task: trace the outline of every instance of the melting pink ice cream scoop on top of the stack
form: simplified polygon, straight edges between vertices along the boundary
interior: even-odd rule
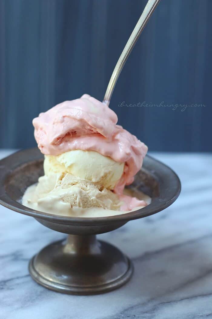
[[[116,125],[117,115],[106,104],[84,94],[65,101],[33,120],[35,139],[43,154],[59,155],[71,150],[96,151],[125,163],[124,172],[114,192],[121,195],[140,170],[147,146]],[[124,198],[127,201],[127,198]],[[131,200],[130,209],[143,205]],[[129,205],[128,205],[129,207]]]

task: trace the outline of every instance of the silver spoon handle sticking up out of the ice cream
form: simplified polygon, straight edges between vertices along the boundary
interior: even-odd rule
[[[127,61],[128,56],[130,55],[130,52],[132,51],[136,41],[138,40],[141,32],[143,31],[144,27],[146,26],[149,18],[151,17],[154,9],[159,4],[160,0],[148,0],[146,7],[144,8],[143,13],[140,16],[140,19],[138,20],[131,36],[129,37],[129,40],[127,41],[127,44],[122,51],[120,58],[118,62],[116,63],[115,69],[113,70],[112,76],[110,78],[110,82],[107,86],[107,90],[105,93],[105,97],[103,100],[103,103],[106,103],[107,105],[110,104],[110,99],[113,94],[114,87],[116,85],[116,82],[118,80],[118,77],[121,73],[121,70]]]

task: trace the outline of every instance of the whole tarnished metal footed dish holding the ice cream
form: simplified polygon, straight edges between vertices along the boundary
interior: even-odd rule
[[[128,221],[143,218],[170,206],[181,183],[172,169],[146,156],[129,188],[152,198],[144,208],[107,217],[69,217],[36,211],[22,205],[22,197],[43,172],[38,148],[14,153],[0,161],[0,204],[34,217],[42,225],[68,234],[68,238],[42,249],[29,263],[32,278],[51,290],[69,294],[96,294],[116,289],[133,273],[132,262],[119,249],[96,234],[112,231]]]

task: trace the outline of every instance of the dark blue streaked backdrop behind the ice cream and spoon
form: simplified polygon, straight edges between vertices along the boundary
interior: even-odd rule
[[[102,100],[145,4],[0,0],[0,147],[35,145],[32,118],[59,102]],[[211,12],[211,0],[161,0],[121,72],[110,107],[151,151],[212,151]]]

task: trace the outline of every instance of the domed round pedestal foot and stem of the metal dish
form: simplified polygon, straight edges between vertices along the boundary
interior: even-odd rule
[[[34,256],[32,278],[51,290],[77,295],[105,293],[125,284],[133,273],[131,261],[95,235],[69,235]]]

